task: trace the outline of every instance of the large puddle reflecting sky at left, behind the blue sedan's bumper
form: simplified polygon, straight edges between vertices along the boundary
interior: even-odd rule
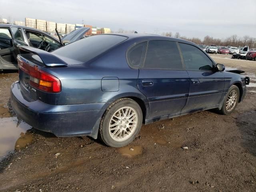
[[[6,116],[10,116],[10,113],[6,113]],[[25,122],[19,121],[17,117],[0,118],[0,160],[9,152],[32,143],[32,134],[26,133],[31,128]]]

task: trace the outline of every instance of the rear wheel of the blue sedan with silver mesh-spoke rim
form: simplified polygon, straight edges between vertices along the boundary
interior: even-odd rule
[[[118,99],[105,111],[99,134],[110,147],[122,147],[132,142],[142,126],[142,110],[129,98]]]

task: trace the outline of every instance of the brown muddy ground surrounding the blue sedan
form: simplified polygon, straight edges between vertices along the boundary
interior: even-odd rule
[[[211,56],[225,66],[244,69],[256,82],[256,62]],[[16,150],[2,152],[6,156],[0,163],[0,191],[256,191],[253,86],[231,116],[209,110],[155,122],[142,126],[129,146],[110,148],[89,137],[56,138],[29,129],[3,108],[17,79],[17,73],[0,74],[2,135],[8,133],[6,125],[18,134],[2,142]],[[4,138],[0,136],[0,142]]]

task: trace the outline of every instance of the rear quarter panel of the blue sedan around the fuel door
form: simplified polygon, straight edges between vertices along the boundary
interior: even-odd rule
[[[117,46],[85,64],[46,69],[59,78],[62,84],[62,91],[56,94],[56,104],[107,103],[128,96],[146,101],[137,88],[138,70],[127,64],[127,48],[128,44]],[[110,87],[110,91],[103,91],[102,78],[111,77],[118,79],[119,89],[111,89],[113,85],[109,84],[107,87]]]

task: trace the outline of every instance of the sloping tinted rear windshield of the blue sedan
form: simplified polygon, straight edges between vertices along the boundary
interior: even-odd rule
[[[52,53],[80,62],[87,62],[126,39],[127,37],[119,35],[95,35],[70,43]]]

